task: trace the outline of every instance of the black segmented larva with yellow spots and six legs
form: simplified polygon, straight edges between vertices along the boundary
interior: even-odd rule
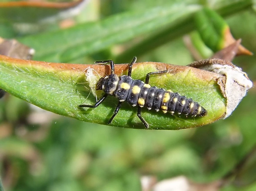
[[[97,83],[97,90],[103,90],[105,94],[94,105],[82,104],[79,105],[79,107],[96,108],[107,98],[107,96],[115,96],[119,102],[116,106],[114,114],[109,119],[108,124],[112,122],[122,103],[127,101],[133,107],[139,105],[137,116],[147,129],[149,128],[149,124],[141,117],[142,107],[146,107],[148,110],[162,110],[164,113],[183,113],[184,115],[190,117],[203,117],[207,114],[207,111],[192,99],[188,99],[185,96],[180,96],[179,93],[173,93],[171,90],[166,91],[162,88],[151,87],[149,85],[150,75],[165,73],[167,70],[149,72],[146,76],[145,83],[141,80],[133,80],[131,78],[132,65],[136,62],[136,59],[137,58],[134,57],[132,62],[129,64],[128,75],[119,77],[115,74],[114,62],[112,60],[95,62],[98,64],[110,64],[111,67],[111,74],[104,78],[100,78]]]

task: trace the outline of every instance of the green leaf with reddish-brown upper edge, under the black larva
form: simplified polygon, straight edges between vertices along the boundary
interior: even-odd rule
[[[116,98],[109,96],[97,108],[78,107],[83,103],[96,102],[86,81],[85,73],[89,67],[95,70],[98,79],[104,76],[105,72],[109,72],[107,66],[97,64],[46,63],[0,56],[0,88],[45,110],[83,121],[107,124],[115,110]],[[126,69],[127,64],[115,65],[118,76],[126,73]],[[148,72],[165,69],[169,72],[153,76],[150,78],[150,84],[192,98],[208,110],[208,115],[201,118],[186,118],[143,108],[142,116],[150,124],[151,129],[177,130],[197,127],[223,116],[226,108],[225,99],[216,81],[220,77],[219,74],[185,66],[144,62],[134,65],[132,77],[144,80]],[[144,129],[144,125],[136,115],[136,108],[127,103],[122,105],[110,125]]]

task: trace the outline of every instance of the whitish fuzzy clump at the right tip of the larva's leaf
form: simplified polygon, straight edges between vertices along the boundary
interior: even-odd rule
[[[247,74],[241,68],[235,65],[210,64],[200,69],[220,73],[226,76],[226,82],[219,79],[219,85],[224,97],[227,98],[226,114],[224,119],[236,109],[239,102],[245,97],[246,92],[253,86],[253,82],[249,80]]]

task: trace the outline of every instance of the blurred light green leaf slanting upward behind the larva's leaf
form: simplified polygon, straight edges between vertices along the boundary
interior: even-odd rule
[[[135,37],[182,23],[200,6],[184,3],[131,11],[105,20],[18,39],[36,50],[34,59],[70,62]]]

